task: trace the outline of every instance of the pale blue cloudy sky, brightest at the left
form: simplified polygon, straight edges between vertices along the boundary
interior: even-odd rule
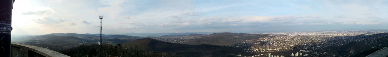
[[[16,0],[12,34],[388,29],[388,0]]]

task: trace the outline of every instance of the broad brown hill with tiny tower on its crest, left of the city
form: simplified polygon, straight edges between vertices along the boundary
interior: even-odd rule
[[[241,43],[244,40],[254,40],[262,37],[271,37],[270,35],[260,35],[260,34],[247,34],[247,33],[213,33],[206,36],[201,36],[200,38],[194,38],[189,41],[186,41],[184,44],[190,45],[200,45],[200,44],[210,44],[210,45],[236,45]]]

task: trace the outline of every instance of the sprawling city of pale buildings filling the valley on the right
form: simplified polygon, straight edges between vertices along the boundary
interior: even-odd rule
[[[377,33],[383,33],[381,31],[376,31]],[[374,34],[376,34],[374,32]],[[364,42],[366,45],[374,46],[388,46],[388,44],[376,43],[381,41],[381,38],[384,36],[379,36],[375,38],[358,38],[367,35],[368,31],[331,31],[324,33],[296,33],[296,34],[287,34],[288,36],[274,35],[274,37],[260,38],[257,40],[246,40],[237,46],[244,48],[245,52],[255,52],[255,53],[265,53],[265,52],[276,52],[283,50],[300,50],[299,53],[292,53],[289,56],[298,57],[298,56],[308,56],[308,55],[322,55],[330,54],[328,52],[334,52],[334,50],[325,50],[322,49],[329,46],[340,46],[352,41]],[[362,35],[364,34],[364,35]],[[387,36],[388,37],[388,36]],[[301,52],[306,52],[307,54],[301,54]],[[332,56],[337,56],[338,54],[330,54]],[[268,55],[270,57],[272,55]]]

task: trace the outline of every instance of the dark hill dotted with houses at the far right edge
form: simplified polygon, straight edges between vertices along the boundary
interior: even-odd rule
[[[344,57],[365,57],[366,55],[369,55],[377,51],[378,49],[388,46],[385,45],[388,44],[388,33],[377,33],[373,35],[340,36],[335,38],[343,37],[345,37],[346,40],[361,40],[351,41],[340,46],[329,46],[327,48],[334,49],[336,51],[336,54]]]

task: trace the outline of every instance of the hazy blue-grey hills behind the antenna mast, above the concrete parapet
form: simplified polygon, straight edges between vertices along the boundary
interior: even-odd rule
[[[106,37],[105,37],[106,36]],[[116,45],[130,40],[139,39],[138,36],[105,35],[102,37],[104,44]],[[49,48],[51,50],[62,50],[76,47],[81,44],[98,43],[100,36],[76,34],[76,33],[51,33],[47,35],[36,35],[24,37],[19,43]]]

